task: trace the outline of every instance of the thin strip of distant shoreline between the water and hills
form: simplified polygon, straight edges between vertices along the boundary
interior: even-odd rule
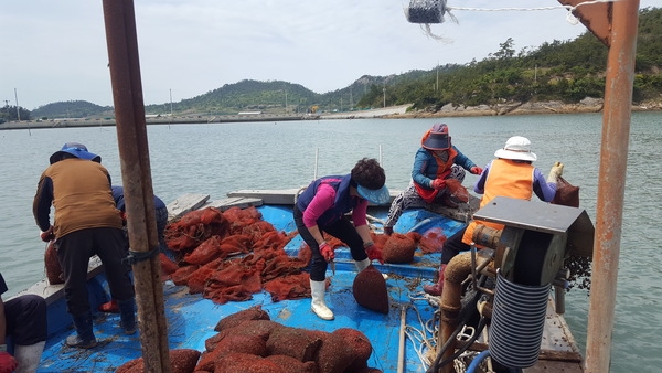
[[[385,108],[354,110],[343,113],[322,113],[303,115],[183,115],[146,118],[147,125],[186,125],[186,124],[222,124],[222,122],[255,122],[255,121],[291,121],[291,120],[333,120],[333,119],[410,119],[410,118],[455,118],[455,117],[485,117],[503,115],[554,115],[554,114],[585,114],[601,113],[602,99],[585,98],[578,104],[564,104],[560,102],[544,103],[513,103],[494,106],[455,106],[448,104],[439,110],[408,111],[412,104],[389,106]],[[632,111],[662,111],[662,102],[651,102],[642,105],[632,105]],[[0,130],[38,129],[38,128],[76,128],[76,127],[114,127],[115,119],[49,119],[49,120],[21,120],[0,124]]]

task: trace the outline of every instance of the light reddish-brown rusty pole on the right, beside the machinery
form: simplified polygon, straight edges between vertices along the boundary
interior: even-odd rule
[[[609,372],[639,0],[612,4],[585,372]]]

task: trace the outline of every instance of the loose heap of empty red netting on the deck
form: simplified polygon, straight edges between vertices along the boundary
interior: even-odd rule
[[[277,231],[255,207],[215,207],[192,211],[166,228],[168,247],[178,252],[175,263],[161,255],[163,271],[191,294],[215,303],[248,300],[267,290],[274,301],[310,297],[310,249],[298,258],[284,247],[297,232]]]

